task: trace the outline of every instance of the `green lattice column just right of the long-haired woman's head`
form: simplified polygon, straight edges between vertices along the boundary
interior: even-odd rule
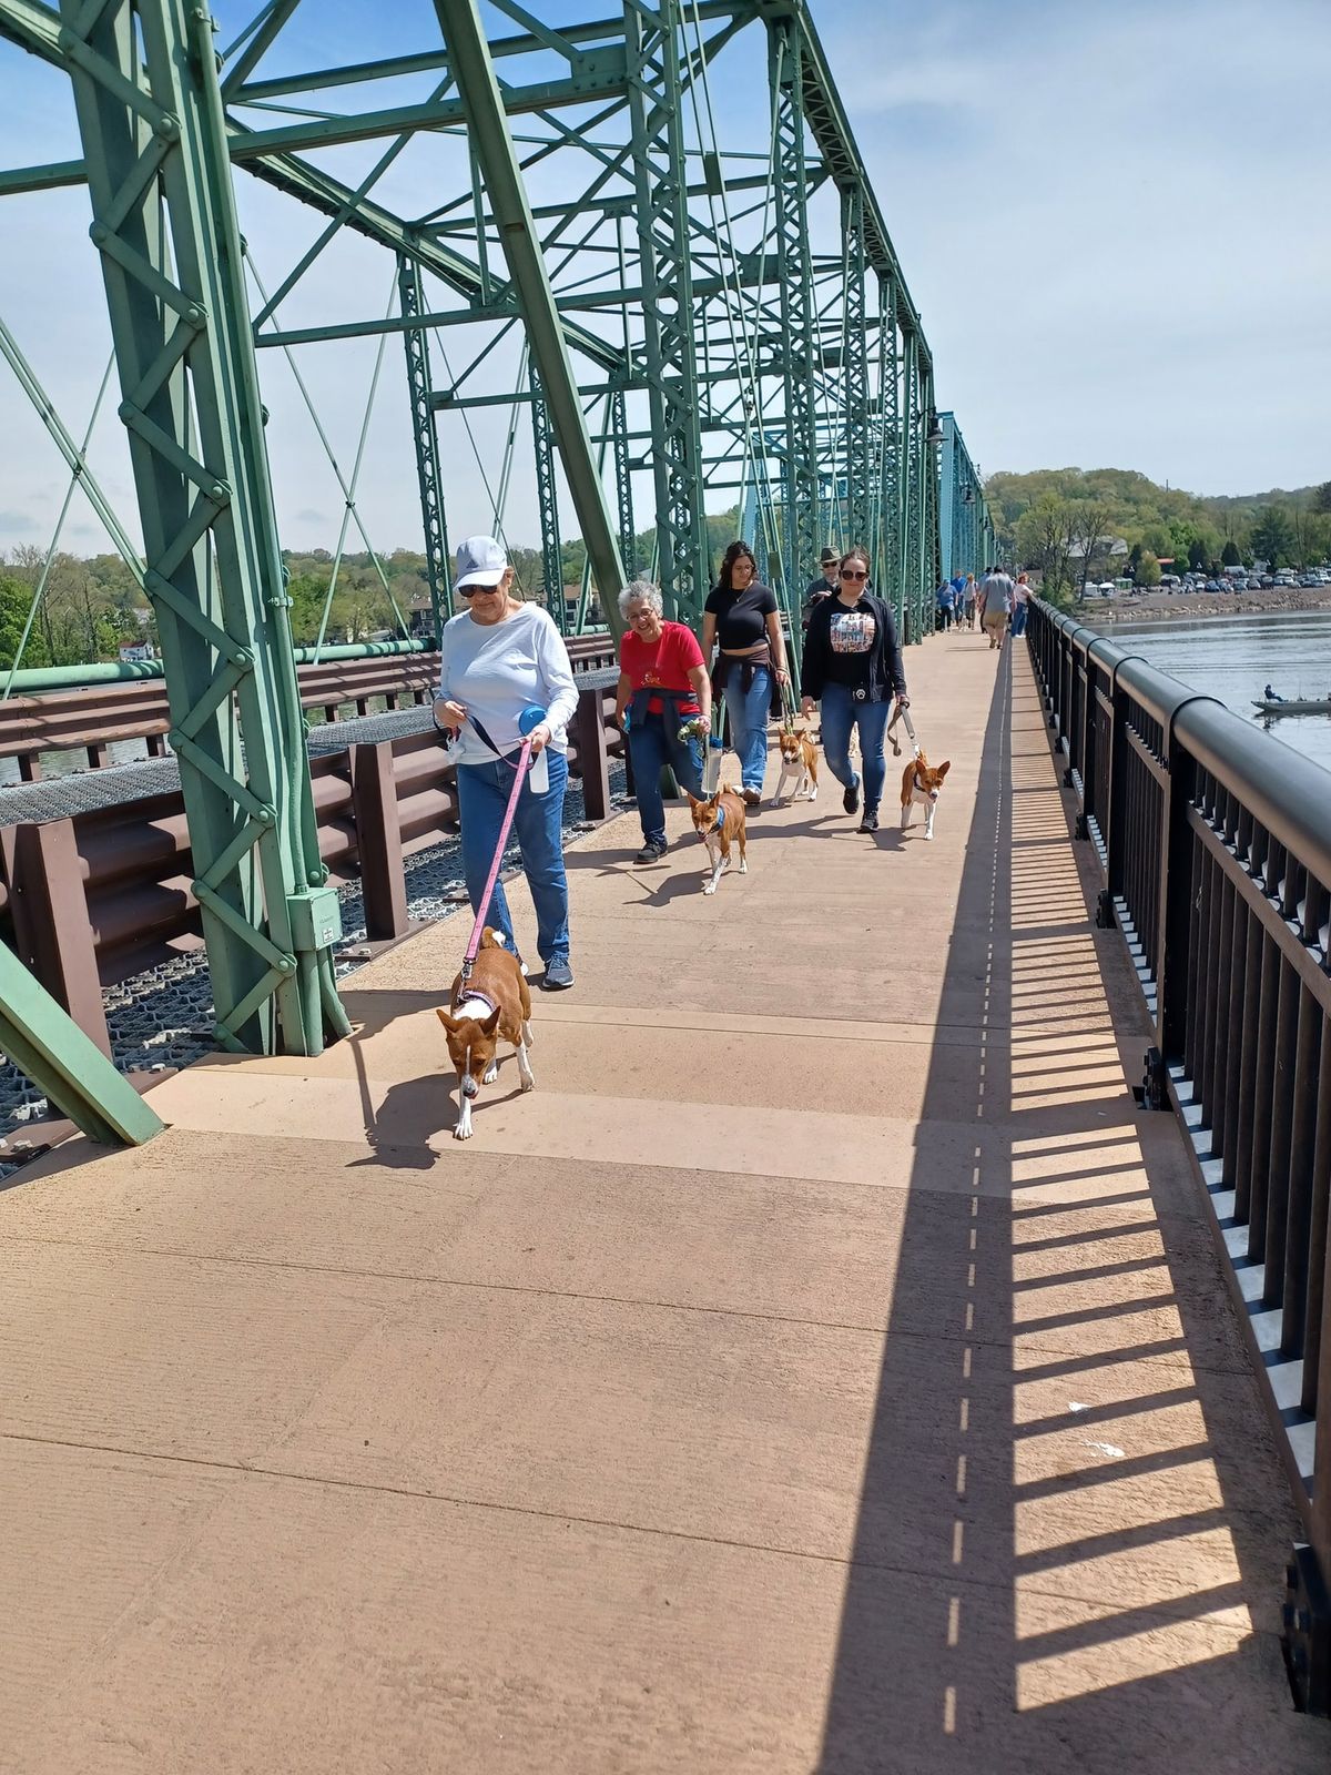
[[[809,179],[804,154],[800,34],[793,18],[768,20],[772,195],[781,296],[781,376],[786,415],[781,502],[792,596],[818,566],[816,307],[809,257]]]

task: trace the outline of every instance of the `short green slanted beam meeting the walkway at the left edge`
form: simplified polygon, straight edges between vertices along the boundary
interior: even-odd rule
[[[142,1147],[161,1118],[0,943],[0,1053],[103,1147]]]

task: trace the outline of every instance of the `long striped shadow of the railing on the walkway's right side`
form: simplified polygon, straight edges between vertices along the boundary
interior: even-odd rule
[[[978,1040],[933,1049],[912,1179],[971,1120],[973,1168],[905,1200],[816,1768],[1311,1771],[1292,1507],[1171,1120],[1125,1085],[1145,1019],[1044,733],[1019,650],[942,994]]]

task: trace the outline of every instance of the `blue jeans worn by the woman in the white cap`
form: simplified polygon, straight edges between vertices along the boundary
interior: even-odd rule
[[[564,875],[568,758],[554,747],[547,747],[545,756],[550,769],[550,788],[545,795],[532,795],[531,781],[524,779],[513,831],[518,838],[522,868],[536,907],[536,950],[548,967],[554,960],[568,960],[568,877]],[[513,767],[499,758],[483,765],[458,765],[461,868],[467,877],[467,898],[472,902],[472,912],[481,911],[484,879],[490,873],[511,793]],[[502,932],[509,948],[516,951],[502,882],[495,882],[486,921]]]

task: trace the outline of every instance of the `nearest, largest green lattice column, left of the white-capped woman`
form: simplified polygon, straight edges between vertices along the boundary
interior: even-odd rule
[[[185,0],[62,0],[62,18],[218,1038],[318,1053],[325,1028],[348,1028],[330,955],[341,923],[314,825],[213,21]]]

